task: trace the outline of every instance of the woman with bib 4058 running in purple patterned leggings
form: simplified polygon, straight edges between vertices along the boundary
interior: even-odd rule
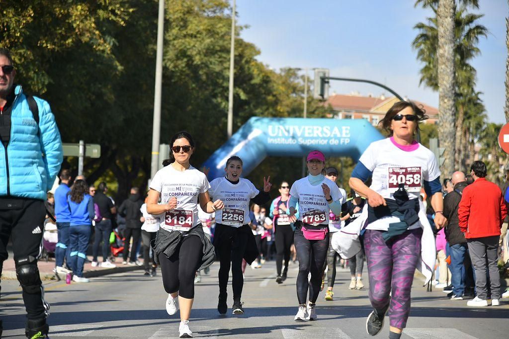
[[[434,253],[433,241],[421,246],[421,239],[433,239],[419,200],[421,186],[432,196],[437,227],[446,222],[437,160],[414,139],[418,122],[425,119],[425,111],[413,102],[395,103],[380,122],[389,137],[367,147],[349,181],[368,203],[363,209],[363,215],[367,214],[363,241],[374,308],[366,320],[370,335],[380,332],[389,310],[389,338],[401,337],[410,312],[410,290],[415,269],[421,263],[421,248],[431,246]],[[367,187],[364,182],[369,177],[372,184]],[[428,267],[434,262],[430,260]]]

